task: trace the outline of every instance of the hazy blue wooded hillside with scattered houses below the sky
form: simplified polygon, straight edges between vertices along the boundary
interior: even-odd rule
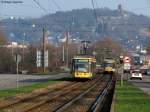
[[[92,9],[76,9],[67,12],[56,12],[36,19],[5,19],[0,22],[7,37],[11,41],[25,39],[28,42],[40,42],[42,29],[49,31],[49,41],[58,42],[64,38],[65,31],[70,31],[71,38],[79,40],[92,40],[103,37],[112,37],[124,45],[132,47],[133,44],[145,43],[146,35],[141,30],[150,26],[150,18],[107,8],[97,9],[98,23]]]

